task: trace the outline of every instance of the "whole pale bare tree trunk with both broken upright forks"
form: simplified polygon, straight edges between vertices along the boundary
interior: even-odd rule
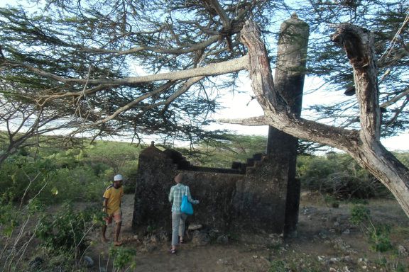
[[[264,116],[241,120],[243,125],[272,125],[295,137],[320,142],[348,152],[376,176],[396,197],[409,217],[409,170],[379,141],[381,113],[378,106],[376,63],[371,33],[341,25],[332,40],[342,44],[353,68],[356,96],[360,106],[361,130],[344,130],[304,120],[291,113],[290,105],[274,89],[266,47],[255,23],[246,22],[241,40],[249,48],[251,86]]]

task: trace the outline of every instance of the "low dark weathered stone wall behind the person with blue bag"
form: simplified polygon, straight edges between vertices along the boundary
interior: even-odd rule
[[[211,171],[187,162],[178,164],[180,158],[175,157],[180,156],[153,146],[141,153],[133,212],[135,230],[143,232],[150,226],[170,231],[168,193],[175,185],[173,177],[182,171],[182,183],[190,186],[192,198],[200,200],[188,222],[224,233],[283,232],[288,169],[265,158],[247,167],[246,174],[234,174],[229,169]]]

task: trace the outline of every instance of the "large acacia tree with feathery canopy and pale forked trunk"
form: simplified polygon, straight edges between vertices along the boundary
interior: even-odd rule
[[[156,133],[194,141],[215,136],[202,130],[208,122],[208,113],[217,109],[214,94],[222,87],[234,89],[239,71],[249,69],[253,91],[265,115],[234,123],[273,125],[295,137],[349,152],[388,186],[409,215],[408,170],[379,142],[381,132],[396,132],[407,125],[408,86],[404,81],[408,74],[407,4],[405,1],[388,1],[388,6],[384,1],[348,1],[349,4],[305,1],[306,6],[298,10],[301,14],[314,11],[309,13],[311,16],[305,16],[305,21],[310,23],[312,37],[317,38],[311,42],[312,48],[321,50],[309,50],[313,54],[309,60],[317,60],[308,62],[310,70],[317,68],[313,69],[316,74],[325,74],[329,82],[336,80],[339,88],[350,86],[353,78],[356,84],[357,99],[336,105],[347,116],[342,122],[338,111],[325,108],[334,116],[334,125],[338,125],[329,126],[295,118],[285,104],[264,98],[266,94],[278,96],[268,74],[274,58],[267,56],[274,51],[273,47],[269,48],[274,44],[271,26],[282,21],[276,15],[284,13],[288,17],[293,11],[284,2],[49,0],[41,13],[21,7],[2,8],[0,84],[30,85],[33,92],[19,96],[24,97],[22,102],[28,100],[45,108],[70,108],[73,118],[82,120],[78,131],[87,128],[95,133],[120,132],[131,137]],[[381,4],[382,9],[373,8]],[[385,10],[387,16],[380,10]],[[262,27],[261,39],[255,34],[242,42],[240,33],[247,20]],[[351,69],[346,66],[342,50],[332,45],[327,36],[325,40],[322,38],[322,34],[328,34],[323,23],[327,26],[339,22],[359,23],[376,30],[374,47],[371,42],[360,42],[362,35],[352,36],[357,37],[354,44],[375,48],[375,55],[386,52],[380,59],[382,62],[374,63],[369,72],[376,76],[376,65],[383,67],[379,86],[385,91],[380,96],[376,78],[362,80],[358,76],[361,69],[354,61],[354,72],[347,72]],[[263,45],[258,46],[262,52],[257,55],[260,62],[255,62],[256,57],[249,57],[255,45]],[[268,45],[267,50],[264,45]],[[370,55],[370,49],[359,48],[363,50],[359,54]],[[351,57],[350,52],[347,55]],[[369,59],[372,61],[368,63],[376,62],[374,57]],[[141,74],[139,67],[146,74]],[[222,80],[217,80],[216,76],[220,75]],[[387,85],[382,85],[386,82]],[[391,82],[398,83],[393,91],[386,88]],[[367,94],[372,96],[366,98]],[[383,115],[381,120],[380,101],[383,108],[393,109],[390,110],[393,116]],[[386,130],[385,125],[394,129]]]

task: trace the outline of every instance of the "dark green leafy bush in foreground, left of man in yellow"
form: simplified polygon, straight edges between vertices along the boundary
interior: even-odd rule
[[[102,222],[102,214],[98,208],[72,210],[65,204],[55,215],[44,215],[36,236],[41,244],[53,254],[76,256],[89,246],[89,230]]]

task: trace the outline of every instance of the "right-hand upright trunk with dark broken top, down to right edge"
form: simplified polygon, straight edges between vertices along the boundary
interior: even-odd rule
[[[381,109],[373,34],[363,28],[342,24],[332,35],[332,40],[342,45],[347,53],[354,69],[356,98],[359,101],[360,142],[349,147],[348,152],[393,193],[409,216],[409,171],[380,142]]]

